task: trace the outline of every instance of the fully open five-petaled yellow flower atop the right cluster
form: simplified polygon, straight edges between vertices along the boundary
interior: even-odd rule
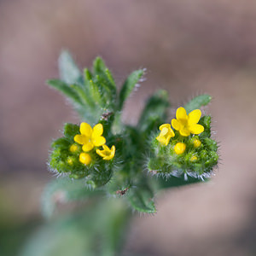
[[[187,115],[185,108],[177,108],[176,118],[172,119],[172,127],[184,137],[188,137],[190,133],[200,134],[204,131],[204,126],[197,124],[201,118],[200,109],[195,109]]]

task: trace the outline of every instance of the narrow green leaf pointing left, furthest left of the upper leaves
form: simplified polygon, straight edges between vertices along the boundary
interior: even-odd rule
[[[62,82],[59,79],[50,79],[46,81],[49,86],[53,87],[55,90],[61,91],[65,96],[71,99],[73,102],[77,104],[82,104],[80,97],[78,96],[77,92],[73,90],[73,88],[69,87],[66,83]]]

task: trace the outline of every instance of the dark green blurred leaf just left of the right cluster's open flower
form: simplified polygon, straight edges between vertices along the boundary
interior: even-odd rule
[[[146,132],[157,129],[159,125],[165,122],[169,106],[166,90],[158,90],[148,99],[139,119],[138,128]]]

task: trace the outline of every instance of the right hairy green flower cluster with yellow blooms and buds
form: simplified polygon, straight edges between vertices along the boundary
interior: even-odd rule
[[[200,109],[187,114],[181,107],[171,124],[160,125],[160,134],[152,141],[148,170],[164,175],[209,177],[218,163],[218,145],[211,138],[211,117],[201,118]]]

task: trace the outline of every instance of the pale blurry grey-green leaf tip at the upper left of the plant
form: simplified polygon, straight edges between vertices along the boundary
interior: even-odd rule
[[[59,57],[59,71],[61,80],[65,83],[77,84],[81,82],[82,76],[79,67],[76,66],[67,50],[62,51]]]

